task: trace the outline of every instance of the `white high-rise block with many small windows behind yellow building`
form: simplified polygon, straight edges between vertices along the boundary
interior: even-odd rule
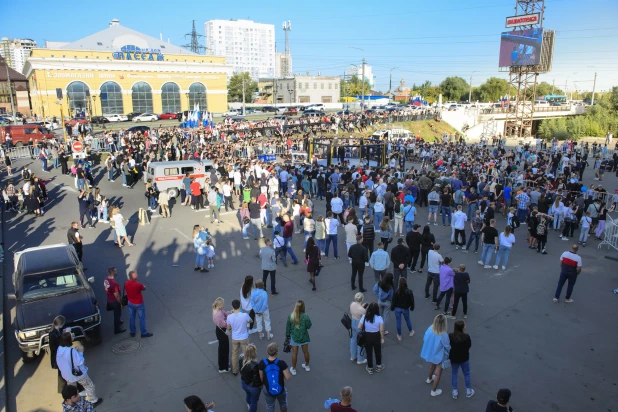
[[[204,23],[209,55],[225,56],[234,72],[255,80],[275,76],[275,26],[251,20],[209,20]]]

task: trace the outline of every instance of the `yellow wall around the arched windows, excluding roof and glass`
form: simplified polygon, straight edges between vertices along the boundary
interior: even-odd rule
[[[137,57],[141,57],[139,53]],[[60,115],[56,88],[63,91],[64,115],[69,115],[67,87],[74,82],[83,82],[90,90],[87,106],[92,115],[102,114],[101,86],[106,82],[120,87],[124,114],[135,111],[133,86],[138,82],[151,87],[154,113],[162,112],[162,86],[168,82],[179,88],[181,110],[193,109],[189,107],[187,93],[191,84],[201,83],[206,88],[207,110],[219,113],[227,110],[227,74],[231,72],[224,62],[224,58],[215,56],[164,55],[162,61],[148,61],[147,57],[118,60],[112,52],[34,49],[25,69],[33,111],[40,115]]]

